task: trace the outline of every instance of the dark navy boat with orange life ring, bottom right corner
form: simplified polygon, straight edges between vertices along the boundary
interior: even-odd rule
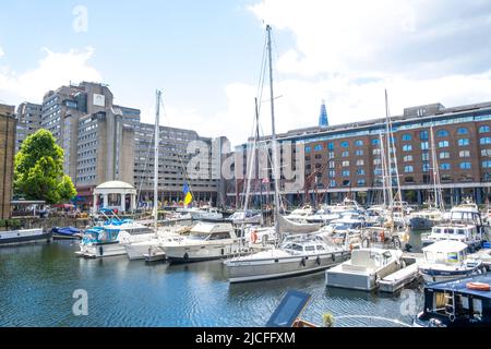
[[[491,326],[491,273],[424,287],[417,327]]]

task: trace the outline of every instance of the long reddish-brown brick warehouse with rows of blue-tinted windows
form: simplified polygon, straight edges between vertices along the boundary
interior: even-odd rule
[[[486,203],[491,188],[491,103],[445,108],[441,104],[406,108],[392,118],[397,170],[405,200],[423,203],[431,198],[433,169],[438,165],[443,196],[448,205],[471,197]],[[283,191],[290,204],[339,202],[346,195],[364,203],[381,197],[380,134],[385,118],[307,128],[278,134],[278,143],[291,142],[304,149],[304,186]],[[438,164],[431,161],[431,130]],[[263,146],[271,137],[262,140]],[[383,141],[385,143],[385,141]],[[238,147],[243,152],[246,145]],[[285,159],[282,156],[282,166]],[[243,164],[247,164],[243,161]],[[294,163],[295,165],[295,163]],[[246,169],[243,170],[246,173]],[[282,179],[282,188],[285,180]],[[243,191],[240,181],[228,181],[228,203]],[[273,180],[262,185],[273,192]],[[260,195],[255,191],[254,195]],[[263,200],[264,202],[264,200]]]

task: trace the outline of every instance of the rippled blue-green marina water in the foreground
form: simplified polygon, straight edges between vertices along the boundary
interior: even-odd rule
[[[422,305],[418,289],[328,289],[324,273],[229,285],[220,261],[146,265],[76,250],[73,241],[0,249],[0,326],[264,326],[288,289],[312,294],[302,317],[318,325],[332,313],[335,326],[402,326]],[[87,291],[87,316],[72,313],[76,289]]]

